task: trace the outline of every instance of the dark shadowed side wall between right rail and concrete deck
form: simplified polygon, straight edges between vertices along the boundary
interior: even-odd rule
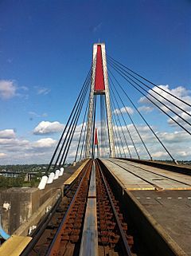
[[[101,166],[107,171],[102,162]],[[128,226],[133,226],[133,230],[138,230],[140,239],[145,242],[146,251],[148,250],[153,256],[186,256],[180,246],[170,238],[170,235],[138,202],[131,191],[123,190],[110,171],[107,171],[107,175],[110,177],[111,187],[115,187],[115,195],[125,212],[123,217]]]

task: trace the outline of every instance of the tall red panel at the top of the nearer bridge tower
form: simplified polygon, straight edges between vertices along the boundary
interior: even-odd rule
[[[105,89],[101,45],[97,45],[95,91]]]

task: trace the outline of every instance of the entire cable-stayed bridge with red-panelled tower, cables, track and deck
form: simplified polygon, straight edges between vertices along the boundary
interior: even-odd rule
[[[156,116],[144,115],[140,96]],[[0,254],[191,255],[191,170],[178,163],[182,148],[190,149],[190,109],[94,44],[88,75],[33,192],[44,200],[41,214],[36,209],[11,238],[2,228]],[[156,127],[166,118],[162,133]],[[174,148],[176,136],[184,144]],[[43,205],[52,209],[44,218]]]

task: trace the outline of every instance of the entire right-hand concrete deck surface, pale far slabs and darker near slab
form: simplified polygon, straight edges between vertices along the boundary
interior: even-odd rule
[[[102,161],[119,185],[146,210],[146,218],[152,216],[184,255],[190,256],[191,177],[127,160]]]

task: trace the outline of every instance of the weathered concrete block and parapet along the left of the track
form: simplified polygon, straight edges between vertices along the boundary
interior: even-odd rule
[[[44,190],[36,187],[15,187],[0,192],[0,214],[2,215],[2,227],[8,234],[14,234],[23,223],[26,223],[35,215],[42,205],[46,206],[47,200],[57,200],[57,189],[63,191],[64,181],[72,175],[82,162],[76,166],[65,168],[64,175],[47,184]],[[53,202],[52,204],[56,203]],[[43,211],[45,212],[45,211]],[[41,214],[39,215],[41,216]]]

